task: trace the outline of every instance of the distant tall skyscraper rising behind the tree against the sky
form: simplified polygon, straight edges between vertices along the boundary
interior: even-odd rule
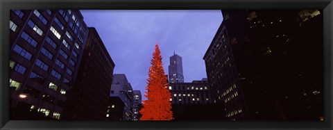
[[[173,56],[170,57],[169,82],[184,83],[184,75],[182,74],[182,57],[175,54],[175,52],[173,52]]]

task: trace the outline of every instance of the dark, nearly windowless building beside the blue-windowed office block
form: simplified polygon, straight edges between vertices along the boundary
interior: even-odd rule
[[[114,62],[94,28],[89,28],[83,49],[76,83],[68,92],[66,119],[107,120]]]

